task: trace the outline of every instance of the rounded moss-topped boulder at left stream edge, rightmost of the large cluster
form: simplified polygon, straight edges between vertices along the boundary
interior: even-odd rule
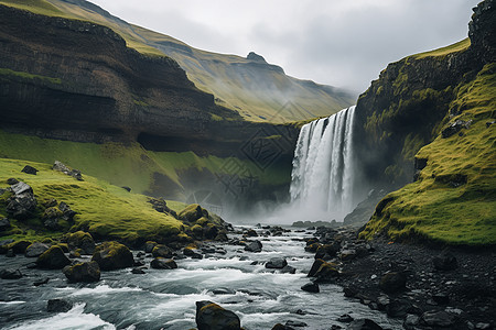
[[[118,242],[104,242],[96,246],[91,261],[96,261],[101,271],[132,267],[134,258],[126,245]]]

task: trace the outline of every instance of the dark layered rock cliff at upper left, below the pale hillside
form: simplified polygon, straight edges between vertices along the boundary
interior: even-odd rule
[[[3,128],[77,141],[140,134],[233,140],[239,116],[214,103],[168,57],[126,47],[111,30],[0,7]],[[236,125],[242,125],[237,123]]]

